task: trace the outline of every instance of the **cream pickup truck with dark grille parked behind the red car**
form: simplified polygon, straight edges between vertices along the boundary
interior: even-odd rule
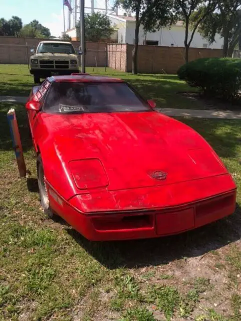
[[[30,73],[34,82],[51,75],[70,75],[79,72],[79,59],[70,42],[41,41],[36,52],[32,49]]]

